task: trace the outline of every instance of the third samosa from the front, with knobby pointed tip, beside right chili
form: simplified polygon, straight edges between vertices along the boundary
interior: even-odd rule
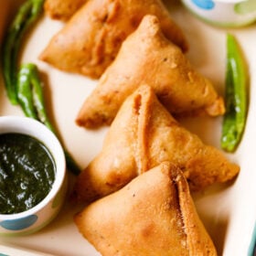
[[[86,128],[112,123],[126,97],[139,84],[152,86],[168,111],[223,114],[225,106],[209,80],[163,35],[155,16],[144,16],[112,65],[80,108],[76,122]]]

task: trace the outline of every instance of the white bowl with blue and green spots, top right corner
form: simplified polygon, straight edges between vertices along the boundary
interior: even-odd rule
[[[182,0],[191,13],[219,27],[244,27],[256,20],[255,0]]]

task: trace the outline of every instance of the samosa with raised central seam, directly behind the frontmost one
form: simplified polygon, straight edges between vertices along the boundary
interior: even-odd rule
[[[240,167],[182,127],[144,85],[124,101],[97,155],[78,176],[75,197],[90,202],[170,161],[184,171],[193,190],[226,182]]]

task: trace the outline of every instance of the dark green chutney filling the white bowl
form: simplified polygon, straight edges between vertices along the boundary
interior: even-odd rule
[[[35,207],[47,197],[56,165],[48,148],[32,136],[0,134],[0,214]]]

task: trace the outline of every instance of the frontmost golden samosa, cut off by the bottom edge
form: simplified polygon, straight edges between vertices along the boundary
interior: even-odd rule
[[[165,162],[75,216],[102,256],[213,256],[186,178]]]

